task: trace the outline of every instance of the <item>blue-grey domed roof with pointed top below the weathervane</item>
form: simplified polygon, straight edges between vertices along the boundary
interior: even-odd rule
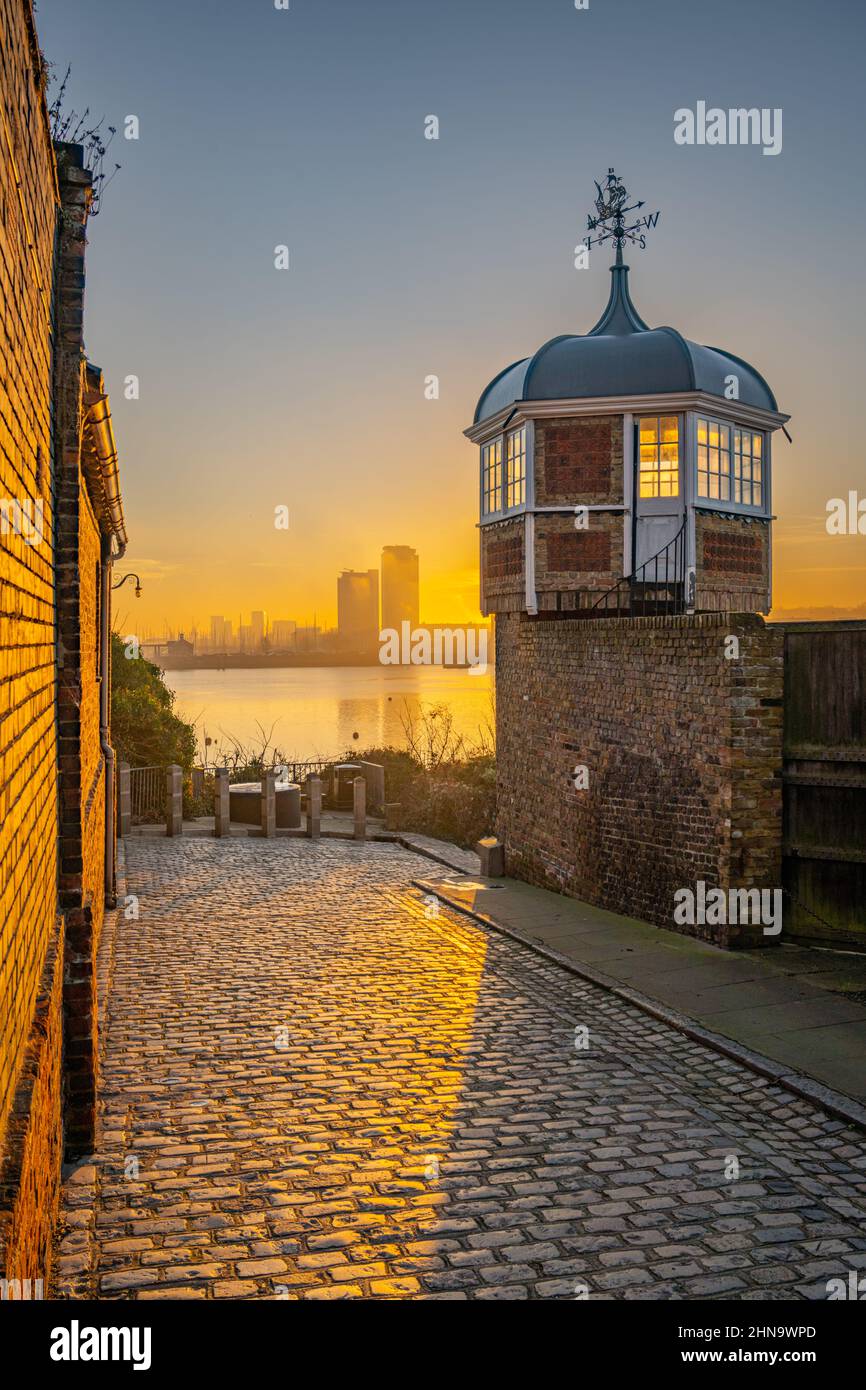
[[[655,396],[702,391],[724,398],[726,377],[738,378],[740,402],[773,410],[776,396],[759,371],[720,348],[703,348],[676,328],[649,328],[631,303],[628,267],[610,267],[610,299],[585,335],[552,338],[493,377],[481,393],[475,424],[518,400],[591,396]]]

